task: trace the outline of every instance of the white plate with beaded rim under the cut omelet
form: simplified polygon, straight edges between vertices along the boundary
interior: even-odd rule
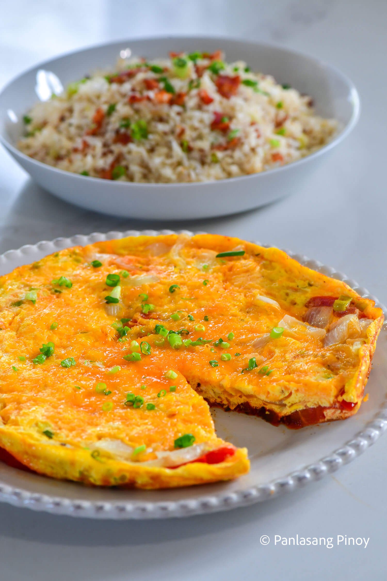
[[[39,242],[34,246],[22,246],[19,250],[9,250],[0,256],[0,274],[68,246],[83,246],[100,240],[140,234],[173,232],[96,232],[89,236],[77,235],[57,238],[52,242]],[[300,263],[345,281],[360,295],[374,299],[377,306],[387,313],[386,307],[379,304],[366,289],[359,288],[355,281],[348,280],[345,275],[317,261],[287,252]],[[233,482],[155,491],[88,488],[23,472],[0,462],[0,501],[77,517],[146,519],[185,517],[268,500],[305,486],[308,482],[320,480],[354,460],[381,436],[387,428],[386,376],[385,323],[367,383],[366,391],[370,397],[354,417],[294,431],[275,428],[262,419],[248,415],[214,410],[219,435],[237,446],[247,446],[249,450],[251,471]]]

